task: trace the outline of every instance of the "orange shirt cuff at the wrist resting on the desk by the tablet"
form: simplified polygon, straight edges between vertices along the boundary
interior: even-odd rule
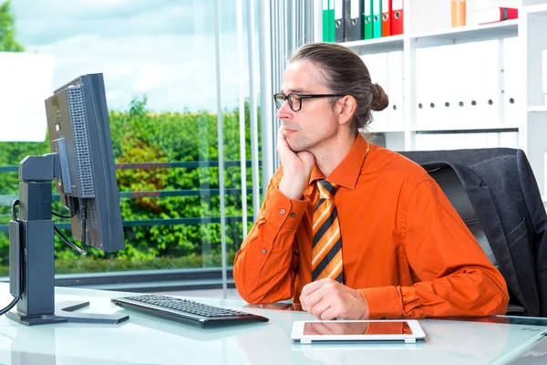
[[[368,318],[402,318],[403,300],[397,287],[367,287],[359,291],[365,297]]]

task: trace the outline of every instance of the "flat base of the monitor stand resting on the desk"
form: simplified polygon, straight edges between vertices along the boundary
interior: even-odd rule
[[[46,325],[51,323],[79,322],[79,323],[108,323],[117,324],[129,319],[128,315],[96,314],[74,312],[84,308],[89,302],[61,302],[55,306],[55,313],[26,315],[21,312],[7,312],[6,316],[26,326]]]

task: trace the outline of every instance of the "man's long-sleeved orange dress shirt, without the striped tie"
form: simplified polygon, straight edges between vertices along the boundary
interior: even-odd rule
[[[335,205],[342,236],[344,284],[359,289],[369,318],[503,314],[509,295],[501,273],[440,189],[418,164],[357,135],[328,176],[340,185]],[[250,303],[293,297],[312,276],[312,223],[319,199],[315,166],[302,200],[268,186],[253,229],[233,263],[233,279]]]

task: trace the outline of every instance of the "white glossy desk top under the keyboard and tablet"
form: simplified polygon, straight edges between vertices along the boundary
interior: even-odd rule
[[[0,307],[9,303],[0,285]],[[114,313],[110,297],[127,293],[57,288],[56,302],[89,300],[85,311]],[[195,299],[195,298],[193,298]],[[242,309],[239,300],[197,299]],[[307,313],[243,308],[270,318],[268,323],[231,328],[193,328],[167,319],[129,312],[119,325],[62,323],[26,327],[0,318],[3,364],[490,364],[536,356],[531,347],[547,327],[448,320],[421,320],[428,338],[417,345],[300,345],[290,339],[292,323]],[[531,355],[532,354],[532,355]],[[529,363],[529,362],[522,362]]]

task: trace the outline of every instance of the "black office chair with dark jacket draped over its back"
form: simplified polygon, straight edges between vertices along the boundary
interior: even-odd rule
[[[439,183],[490,262],[501,271],[510,292],[507,313],[547,317],[547,262],[542,260],[547,258],[547,215],[524,153],[513,149],[400,153],[418,162]],[[515,188],[522,184],[532,193],[522,194]],[[532,208],[531,200],[536,203]],[[519,212],[506,212],[510,209]]]

